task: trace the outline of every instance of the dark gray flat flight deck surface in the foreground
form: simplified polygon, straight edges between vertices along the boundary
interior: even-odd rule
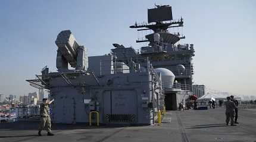
[[[224,108],[168,111],[161,126],[53,124],[54,136],[37,135],[38,122],[0,124],[0,141],[256,141],[256,109],[239,109],[239,124],[226,126]]]

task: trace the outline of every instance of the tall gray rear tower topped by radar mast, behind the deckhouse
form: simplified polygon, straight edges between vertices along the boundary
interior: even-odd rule
[[[172,110],[176,110],[179,103],[185,105],[189,95],[192,95],[192,57],[195,56],[193,44],[177,43],[184,39],[185,35],[168,30],[176,27],[183,27],[183,18],[173,20],[169,5],[156,5],[155,8],[148,9],[148,24],[135,22],[135,25],[130,26],[130,28],[139,28],[138,31],[153,31],[145,35],[145,38],[136,40],[137,43],[149,42],[148,46],[141,47],[140,53],[136,53],[131,47],[112,49],[117,59],[125,58],[124,55],[127,56],[127,53],[133,58],[133,62],[148,57],[155,69],[166,68],[174,73],[176,83],[173,87],[164,86],[166,89],[165,104],[167,109]]]

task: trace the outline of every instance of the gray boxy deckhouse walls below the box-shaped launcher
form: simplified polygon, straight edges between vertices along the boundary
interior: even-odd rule
[[[163,107],[163,95],[156,89],[161,83],[153,82],[150,70],[106,73],[97,77],[99,85],[84,73],[65,73],[71,84],[65,82],[60,73],[50,73],[50,76],[51,97],[55,98],[52,121],[56,123],[89,122],[91,101],[97,102],[95,109],[103,124],[152,124],[154,112]],[[125,120],[127,116],[132,120]]]

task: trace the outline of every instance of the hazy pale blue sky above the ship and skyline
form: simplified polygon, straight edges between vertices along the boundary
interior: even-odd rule
[[[109,53],[112,43],[133,46],[138,33],[129,28],[147,21],[147,8],[171,5],[185,19],[180,43],[195,47],[195,83],[231,93],[256,93],[256,1],[9,1],[0,4],[0,93],[35,91],[42,67],[56,71],[55,39],[70,29],[88,47],[89,56]],[[176,31],[176,30],[174,30]]]

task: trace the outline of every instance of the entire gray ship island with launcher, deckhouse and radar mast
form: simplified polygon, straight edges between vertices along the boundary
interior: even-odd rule
[[[130,26],[154,31],[136,41],[148,46],[136,51],[114,43],[110,54],[91,57],[70,30],[61,31],[58,72],[44,67],[38,79],[27,81],[49,90],[55,123],[89,122],[96,112],[102,124],[153,124],[164,106],[175,110],[191,93],[193,44],[176,44],[185,37],[167,30],[175,27],[183,27],[183,19],[173,20],[170,6],[156,5],[148,9],[148,24]]]

